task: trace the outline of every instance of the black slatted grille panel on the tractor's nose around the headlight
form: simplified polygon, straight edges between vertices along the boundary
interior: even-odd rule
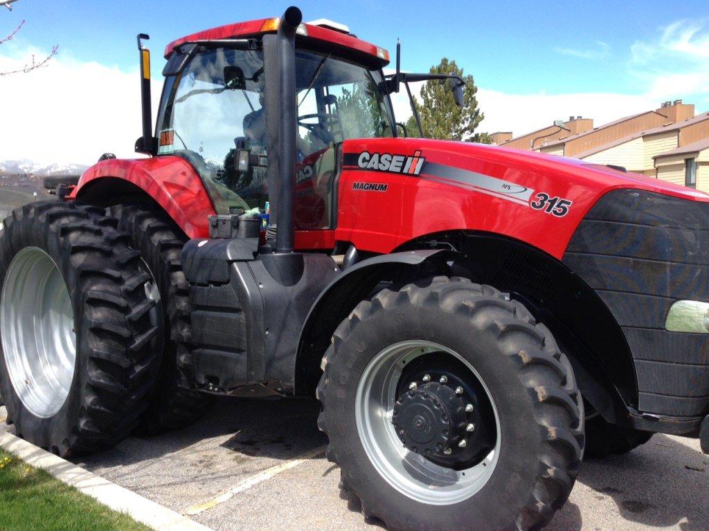
[[[664,323],[676,300],[709,302],[709,205],[644,190],[608,193],[579,225],[563,263],[623,330],[640,411],[708,411],[709,334],[669,332]]]

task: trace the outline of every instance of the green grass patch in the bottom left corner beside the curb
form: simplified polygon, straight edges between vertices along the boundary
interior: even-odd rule
[[[0,450],[1,531],[150,531]]]

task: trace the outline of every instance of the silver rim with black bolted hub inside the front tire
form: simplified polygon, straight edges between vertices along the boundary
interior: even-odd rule
[[[381,350],[359,381],[355,408],[367,456],[409,498],[459,503],[493,474],[501,448],[495,404],[450,348],[416,340]]]

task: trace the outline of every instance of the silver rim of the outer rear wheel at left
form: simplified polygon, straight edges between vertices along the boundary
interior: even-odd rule
[[[0,332],[17,396],[35,416],[55,415],[74,378],[74,311],[57,264],[38,247],[22,249],[10,264],[0,297]]]

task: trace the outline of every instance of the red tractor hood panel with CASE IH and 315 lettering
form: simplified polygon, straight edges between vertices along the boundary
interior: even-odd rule
[[[356,162],[365,151],[414,156],[419,150],[425,158],[419,176],[363,171]],[[342,151],[345,169],[335,236],[352,241],[357,249],[379,253],[424,234],[469,229],[504,234],[561,258],[586,212],[610,190],[635,188],[709,202],[709,195],[679,185],[518,149],[429,139],[364,139],[346,141]],[[488,177],[507,188],[485,188]],[[386,192],[353,190],[355,182],[388,186]],[[515,195],[518,191],[523,195]],[[532,208],[538,193],[570,201],[568,213],[547,213],[548,204],[542,210]]]

